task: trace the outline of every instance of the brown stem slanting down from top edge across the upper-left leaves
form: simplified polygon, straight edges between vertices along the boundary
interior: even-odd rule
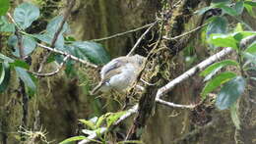
[[[68,8],[67,8],[66,12],[64,13],[63,19],[62,19],[61,23],[59,24],[59,27],[57,28],[56,32],[54,33],[54,36],[53,36],[53,39],[51,41],[50,47],[55,47],[55,43],[58,39],[58,36],[61,33],[63,25],[66,23],[66,21],[68,19],[68,16],[71,13],[71,10],[72,10],[73,6],[75,5],[75,3],[76,3],[76,0],[72,0],[72,1],[67,0]],[[50,56],[50,54],[51,54],[51,52],[48,52],[44,55],[44,57],[42,59],[42,62],[40,63],[39,69],[38,69],[37,72],[42,71],[43,65],[46,63],[47,58]]]

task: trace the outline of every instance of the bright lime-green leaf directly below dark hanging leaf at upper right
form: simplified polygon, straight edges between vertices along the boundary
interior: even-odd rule
[[[215,46],[231,47],[235,50],[238,49],[236,45],[236,40],[233,38],[232,34],[211,34],[208,41]]]

